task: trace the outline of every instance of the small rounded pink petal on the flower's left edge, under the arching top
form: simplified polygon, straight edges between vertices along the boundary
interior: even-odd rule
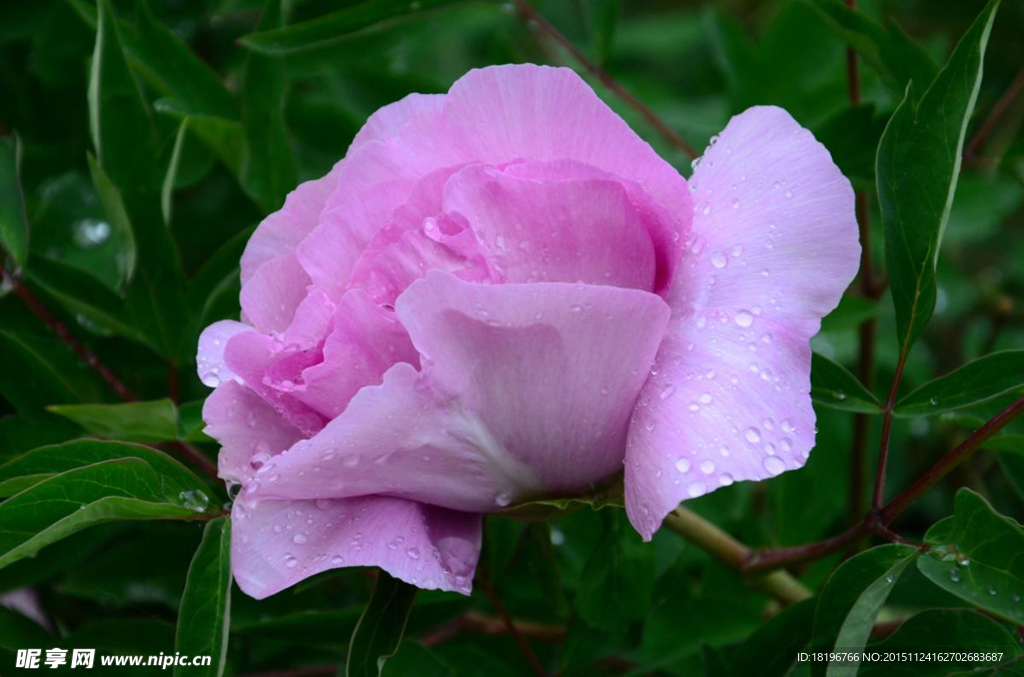
[[[309,276],[295,252],[264,263],[242,287],[243,318],[261,332],[283,332],[306,297]]]

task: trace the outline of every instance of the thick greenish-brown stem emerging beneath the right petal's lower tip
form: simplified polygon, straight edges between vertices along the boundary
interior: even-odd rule
[[[731,568],[741,570],[743,563],[754,555],[748,546],[682,506],[669,513],[665,525]],[[796,604],[811,596],[804,584],[785,572],[752,577],[748,583],[784,604]]]

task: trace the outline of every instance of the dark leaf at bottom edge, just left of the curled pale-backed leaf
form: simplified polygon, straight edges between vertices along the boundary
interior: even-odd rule
[[[783,609],[735,649],[729,670],[734,677],[784,677],[797,652],[811,639],[814,627],[814,599]]]

